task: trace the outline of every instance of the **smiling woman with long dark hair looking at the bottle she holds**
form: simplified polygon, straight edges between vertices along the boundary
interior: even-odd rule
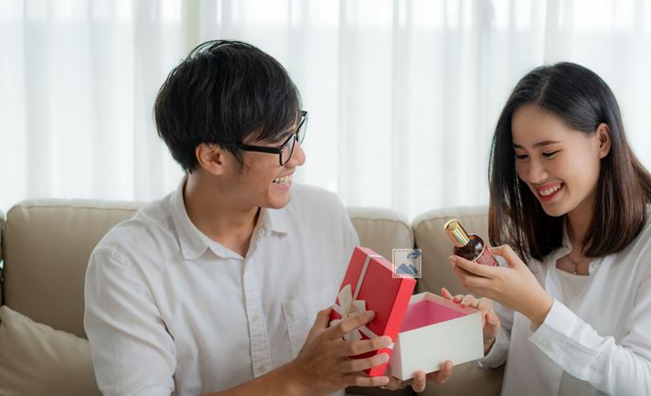
[[[485,313],[503,395],[651,394],[651,176],[591,70],[529,72],[497,122],[489,234],[499,267],[452,256]],[[520,257],[524,260],[521,260]]]

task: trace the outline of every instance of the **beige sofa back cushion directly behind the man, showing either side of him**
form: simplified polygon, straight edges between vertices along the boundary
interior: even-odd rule
[[[7,212],[3,231],[5,301],[35,322],[85,337],[83,284],[90,254],[115,224],[143,204],[98,200],[39,199]],[[351,208],[360,243],[385,257],[411,248],[406,219],[389,209]]]

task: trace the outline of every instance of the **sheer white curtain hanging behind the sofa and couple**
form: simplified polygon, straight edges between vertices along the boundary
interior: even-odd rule
[[[651,167],[651,1],[0,0],[0,209],[175,188],[152,105],[214,38],[290,71],[310,112],[296,180],[350,206],[411,219],[486,204],[501,107],[528,70],[560,60],[609,83]]]

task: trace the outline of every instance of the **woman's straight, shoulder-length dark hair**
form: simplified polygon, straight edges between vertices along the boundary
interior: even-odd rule
[[[511,121],[526,104],[583,134],[595,134],[600,123],[609,126],[612,146],[601,161],[592,222],[582,245],[586,257],[620,252],[646,224],[651,175],[628,145],[613,91],[591,70],[567,62],[528,72],[499,116],[489,166],[491,243],[507,243],[525,260],[539,261],[562,244],[565,216],[547,215],[516,170]]]

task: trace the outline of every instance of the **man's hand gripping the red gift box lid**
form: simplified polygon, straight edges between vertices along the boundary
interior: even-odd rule
[[[363,370],[389,361],[386,353],[365,359],[349,359],[349,356],[386,348],[390,337],[377,337],[347,342],[344,335],[370,322],[372,311],[361,313],[328,327],[330,312],[327,308],[318,313],[315,325],[305,340],[303,348],[290,363],[302,394],[320,396],[341,390],[347,386],[377,387],[389,383],[386,376],[368,377]]]

